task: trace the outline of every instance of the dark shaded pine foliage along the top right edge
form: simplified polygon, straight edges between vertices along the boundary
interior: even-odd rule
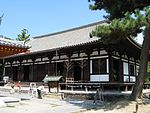
[[[143,10],[144,7],[150,5],[150,0],[88,0],[92,2],[90,9],[101,10],[104,9],[108,14],[106,18],[112,20],[114,18],[124,17],[127,11],[134,13],[134,10],[139,8]]]

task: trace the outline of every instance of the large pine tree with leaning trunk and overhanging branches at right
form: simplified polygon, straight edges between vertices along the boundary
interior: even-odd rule
[[[110,24],[98,26],[93,36],[100,37],[104,43],[115,43],[127,37],[136,36],[144,29],[144,41],[140,55],[140,69],[134,89],[130,96],[131,100],[141,98],[150,49],[150,1],[149,0],[90,0],[93,10],[104,9],[109,15],[105,16]],[[147,6],[147,7],[146,7]],[[146,8],[145,8],[146,7]],[[142,12],[141,12],[142,11]],[[135,14],[133,16],[133,14]]]

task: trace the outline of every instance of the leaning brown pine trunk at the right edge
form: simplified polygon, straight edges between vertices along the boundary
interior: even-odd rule
[[[130,100],[136,100],[142,97],[142,90],[144,85],[145,75],[147,73],[147,64],[149,57],[149,49],[150,49],[150,27],[145,29],[144,41],[141,49],[140,55],[140,69],[139,75],[137,76],[136,83],[134,85],[132,94],[130,96]]]

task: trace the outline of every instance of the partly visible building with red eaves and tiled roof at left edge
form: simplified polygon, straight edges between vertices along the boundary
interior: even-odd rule
[[[4,80],[5,83],[9,80],[9,75],[5,74],[5,57],[11,57],[16,54],[23,54],[28,52],[29,46],[24,45],[23,41],[14,41],[10,39],[6,39],[5,37],[0,37],[0,79]],[[13,60],[10,60],[12,63]]]

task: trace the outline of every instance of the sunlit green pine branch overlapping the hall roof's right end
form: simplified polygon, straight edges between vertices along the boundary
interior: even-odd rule
[[[144,11],[135,10],[135,14],[125,13],[122,19],[114,19],[107,25],[99,25],[92,31],[92,36],[100,37],[105,44],[116,43],[127,37],[135,37],[142,32],[143,26],[150,25],[150,8],[144,8]]]

